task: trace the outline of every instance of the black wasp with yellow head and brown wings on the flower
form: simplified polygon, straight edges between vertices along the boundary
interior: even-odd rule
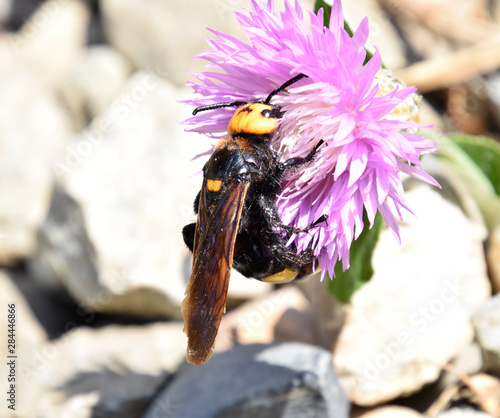
[[[213,351],[225,311],[231,268],[246,277],[270,283],[300,279],[312,270],[312,250],[297,253],[287,245],[292,234],[307,232],[326,220],[322,216],[304,229],[285,225],[276,198],[289,170],[312,160],[323,141],[301,158],[280,161],[270,141],[284,117],[271,99],[307,77],[299,74],[263,102],[230,102],[201,106],[198,112],[237,107],[227,128],[228,136],[215,147],[203,167],[203,184],[194,202],[197,222],[182,234],[193,253],[192,272],[182,303],[187,360],[201,365]]]

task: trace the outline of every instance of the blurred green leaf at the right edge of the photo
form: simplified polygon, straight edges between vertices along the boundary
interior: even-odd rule
[[[500,196],[500,144],[486,136],[463,133],[451,134],[449,138],[474,160]]]

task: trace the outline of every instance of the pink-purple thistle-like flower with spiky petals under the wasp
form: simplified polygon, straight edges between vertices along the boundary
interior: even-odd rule
[[[277,207],[290,226],[304,228],[323,214],[328,222],[292,241],[299,252],[313,248],[322,275],[330,277],[338,260],[344,270],[349,267],[351,243],[365,226],[363,211],[370,227],[379,212],[399,242],[393,210],[401,219],[401,209],[410,210],[400,174],[439,186],[419,161],[436,144],[414,133],[416,124],[391,116],[415,89],[398,86],[380,94],[378,51],[364,64],[368,20],[351,38],[344,30],[340,0],[333,3],[329,28],[324,27],[323,10],[309,12],[307,23],[298,2],[285,2],[285,11],[277,13],[273,0],[267,5],[254,1],[248,14],[236,17],[249,43],[212,31],[219,39],[208,40],[212,49],[200,57],[220,72],[195,75],[199,82],[189,84],[201,97],[187,103],[263,101],[286,80],[306,74],[287,89],[289,94],[272,100],[285,111],[272,146],[284,161],[307,155],[321,139],[326,145],[313,162],[285,179]],[[190,131],[220,137],[233,112],[200,113],[185,123]]]

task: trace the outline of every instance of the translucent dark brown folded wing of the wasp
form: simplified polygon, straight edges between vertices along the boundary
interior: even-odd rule
[[[249,183],[233,181],[211,207],[206,179],[200,196],[193,248],[193,269],[182,302],[187,360],[201,365],[212,355],[226,307],[233,251]]]

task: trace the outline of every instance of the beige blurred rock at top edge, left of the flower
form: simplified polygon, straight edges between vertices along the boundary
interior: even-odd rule
[[[313,10],[313,3],[308,0],[304,6]],[[193,59],[208,48],[205,37],[215,37],[205,28],[246,39],[233,12],[250,7],[247,0],[237,3],[149,0],[148,7],[140,0],[126,3],[103,0],[100,4],[109,42],[137,68],[156,69],[177,85],[186,82],[188,70],[200,72],[205,65],[203,60]]]

